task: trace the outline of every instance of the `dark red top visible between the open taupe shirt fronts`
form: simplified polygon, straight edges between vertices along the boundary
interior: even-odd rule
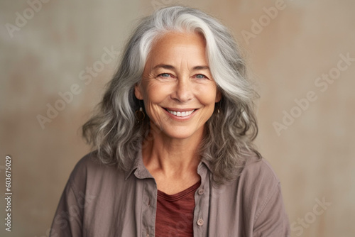
[[[201,181],[177,194],[168,195],[158,190],[155,219],[156,237],[192,237],[195,191]]]

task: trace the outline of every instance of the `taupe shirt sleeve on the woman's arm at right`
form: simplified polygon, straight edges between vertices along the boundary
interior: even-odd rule
[[[253,233],[256,236],[261,233],[266,236],[288,236],[290,228],[280,180],[270,163],[265,158],[247,160],[239,185],[246,204],[244,211],[253,210]]]

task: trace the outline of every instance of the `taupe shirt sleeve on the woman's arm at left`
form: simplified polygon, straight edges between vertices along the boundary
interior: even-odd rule
[[[83,192],[77,192],[71,178],[60,197],[50,230],[50,237],[82,236],[82,214],[85,199]]]

